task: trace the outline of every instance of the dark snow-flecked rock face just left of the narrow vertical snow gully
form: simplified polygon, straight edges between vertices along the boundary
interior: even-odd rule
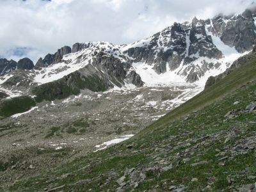
[[[184,58],[182,53],[186,51],[186,31],[179,23],[175,22],[147,41],[144,46],[132,47],[124,51],[124,54],[133,58],[132,61],[154,64],[158,74],[166,72],[166,63],[172,70],[179,67]]]

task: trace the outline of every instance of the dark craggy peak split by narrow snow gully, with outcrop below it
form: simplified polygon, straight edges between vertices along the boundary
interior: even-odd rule
[[[134,47],[124,51],[124,54],[132,58],[131,62],[153,64],[157,74],[175,70],[182,63],[190,65],[200,57],[217,60],[223,57],[221,51],[212,42],[211,36],[207,35],[205,21],[196,18],[191,23],[174,23],[173,26],[144,40],[140,47],[136,47],[135,43]],[[206,66],[206,68],[210,67]],[[181,73],[188,77],[189,83],[193,83],[198,80],[198,77],[204,76],[205,72],[203,68],[195,68],[191,65],[191,68]]]

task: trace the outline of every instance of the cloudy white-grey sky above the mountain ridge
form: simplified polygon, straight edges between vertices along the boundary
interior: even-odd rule
[[[76,42],[129,44],[174,21],[241,13],[256,0],[0,0],[0,58],[33,61]]]

